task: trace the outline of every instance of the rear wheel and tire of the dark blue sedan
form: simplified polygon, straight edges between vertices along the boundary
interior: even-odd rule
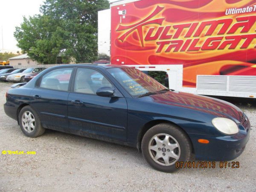
[[[27,137],[38,137],[44,134],[45,129],[41,125],[38,113],[28,105],[20,110],[19,124]]]

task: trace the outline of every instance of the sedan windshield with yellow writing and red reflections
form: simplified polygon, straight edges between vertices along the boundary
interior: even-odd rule
[[[132,96],[166,89],[150,76],[134,68],[109,68],[107,70]]]

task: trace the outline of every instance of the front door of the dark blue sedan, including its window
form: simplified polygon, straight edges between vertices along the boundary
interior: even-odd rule
[[[78,68],[68,96],[70,129],[81,134],[98,135],[115,140],[127,140],[127,102],[119,97],[96,95],[100,87],[113,87],[101,72],[90,68]],[[114,88],[114,87],[113,87]]]

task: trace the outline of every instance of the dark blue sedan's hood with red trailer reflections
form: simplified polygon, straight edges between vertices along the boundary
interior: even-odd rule
[[[165,105],[189,108],[212,114],[214,116],[234,118],[241,121],[242,111],[235,105],[220,99],[200,96],[178,91],[167,91],[155,95],[141,97],[140,99],[151,100]]]

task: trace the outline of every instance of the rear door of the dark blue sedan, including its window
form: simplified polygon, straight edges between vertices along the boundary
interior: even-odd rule
[[[73,67],[50,70],[36,83],[30,93],[31,106],[41,117],[44,126],[51,129],[68,129],[67,98]]]

